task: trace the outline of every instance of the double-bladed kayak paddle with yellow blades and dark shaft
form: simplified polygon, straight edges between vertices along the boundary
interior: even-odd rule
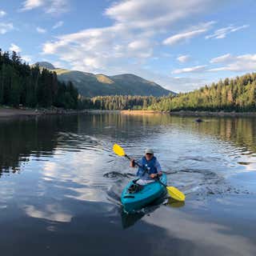
[[[122,146],[119,146],[118,144],[114,144],[113,151],[119,157],[125,157],[125,158],[131,160],[131,158],[126,154],[125,150],[123,150]],[[142,166],[140,166],[138,164],[138,162],[134,162],[134,163],[136,166],[143,168]],[[157,181],[160,182],[162,184],[162,186],[166,187],[166,190],[171,198],[174,198],[175,200],[180,201],[180,202],[185,201],[185,198],[186,198],[185,194],[183,194],[177,188],[175,188],[174,186],[166,186],[166,184],[162,183],[159,179],[157,179]]]

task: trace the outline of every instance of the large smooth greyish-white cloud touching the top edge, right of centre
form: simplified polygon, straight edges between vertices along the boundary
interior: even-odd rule
[[[106,9],[116,22],[137,28],[170,26],[174,22],[205,10],[214,1],[203,0],[126,0]]]

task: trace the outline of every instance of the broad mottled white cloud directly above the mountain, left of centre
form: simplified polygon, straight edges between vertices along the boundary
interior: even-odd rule
[[[102,72],[126,65],[130,58],[150,58],[153,48],[146,38],[141,40],[116,24],[60,36],[56,42],[46,42],[43,53],[57,54],[74,69]]]

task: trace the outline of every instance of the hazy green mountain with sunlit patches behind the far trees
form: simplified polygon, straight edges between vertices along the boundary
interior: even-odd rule
[[[35,64],[56,72],[60,81],[73,82],[79,93],[86,97],[115,94],[142,96],[174,94],[174,92],[162,88],[157,83],[150,82],[134,74],[107,76],[105,74],[59,69],[49,62],[37,62]]]

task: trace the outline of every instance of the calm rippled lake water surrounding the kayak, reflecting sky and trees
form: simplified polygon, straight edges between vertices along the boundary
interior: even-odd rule
[[[132,216],[120,194],[153,147],[186,203]],[[256,119],[88,114],[0,120],[2,255],[255,255]]]

